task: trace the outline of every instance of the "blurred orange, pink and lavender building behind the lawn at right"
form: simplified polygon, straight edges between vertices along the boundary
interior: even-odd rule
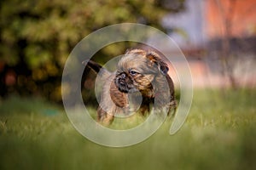
[[[239,86],[256,87],[256,0],[187,0],[184,11],[168,15],[163,23],[182,30],[169,35],[189,60],[195,87],[230,85],[221,68],[225,40]]]

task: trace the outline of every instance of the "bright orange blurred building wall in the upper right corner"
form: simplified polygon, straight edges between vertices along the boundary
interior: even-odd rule
[[[256,35],[255,0],[207,0],[205,31],[208,39]],[[228,27],[228,31],[225,29]]]

